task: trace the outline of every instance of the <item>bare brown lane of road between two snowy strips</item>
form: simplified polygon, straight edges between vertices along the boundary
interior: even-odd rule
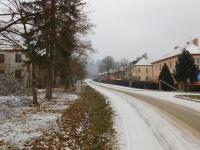
[[[124,91],[116,88],[113,89],[112,87],[107,86],[104,88],[110,89],[115,92],[127,94],[136,98],[137,100],[144,101],[158,108],[160,111],[164,112],[165,114],[168,114],[176,122],[178,121],[179,124],[184,126],[185,129],[189,130],[190,133],[192,133],[194,136],[200,139],[200,112],[197,112],[190,108],[186,108],[184,106],[180,106],[173,102],[163,101],[159,98],[137,94],[133,91]]]

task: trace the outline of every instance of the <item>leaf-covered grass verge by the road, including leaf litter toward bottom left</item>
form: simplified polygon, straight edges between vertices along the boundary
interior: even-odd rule
[[[39,149],[115,149],[113,112],[104,96],[85,86],[80,99],[57,121],[60,132],[46,132],[32,143]]]

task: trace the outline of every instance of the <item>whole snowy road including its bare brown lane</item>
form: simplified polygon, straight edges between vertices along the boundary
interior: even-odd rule
[[[200,103],[173,99],[174,93],[88,84],[115,111],[120,149],[200,150]]]

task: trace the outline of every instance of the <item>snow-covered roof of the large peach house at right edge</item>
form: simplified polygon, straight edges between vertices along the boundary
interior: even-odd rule
[[[175,48],[173,51],[163,55],[162,57],[156,59],[153,61],[154,62],[158,62],[158,61],[161,61],[161,60],[164,60],[164,59],[167,59],[167,58],[171,58],[171,57],[174,57],[174,56],[177,56],[177,55],[180,55],[183,51],[183,49],[186,49],[187,51],[190,52],[190,54],[192,55],[195,55],[195,54],[200,54],[200,47],[194,45],[193,43],[190,43],[190,44],[186,44],[184,46],[180,46],[178,48]]]

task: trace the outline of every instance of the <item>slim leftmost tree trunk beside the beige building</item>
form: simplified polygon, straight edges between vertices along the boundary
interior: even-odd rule
[[[32,61],[32,94],[33,104],[39,105],[37,100],[37,80],[36,80],[36,64],[35,60]]]

